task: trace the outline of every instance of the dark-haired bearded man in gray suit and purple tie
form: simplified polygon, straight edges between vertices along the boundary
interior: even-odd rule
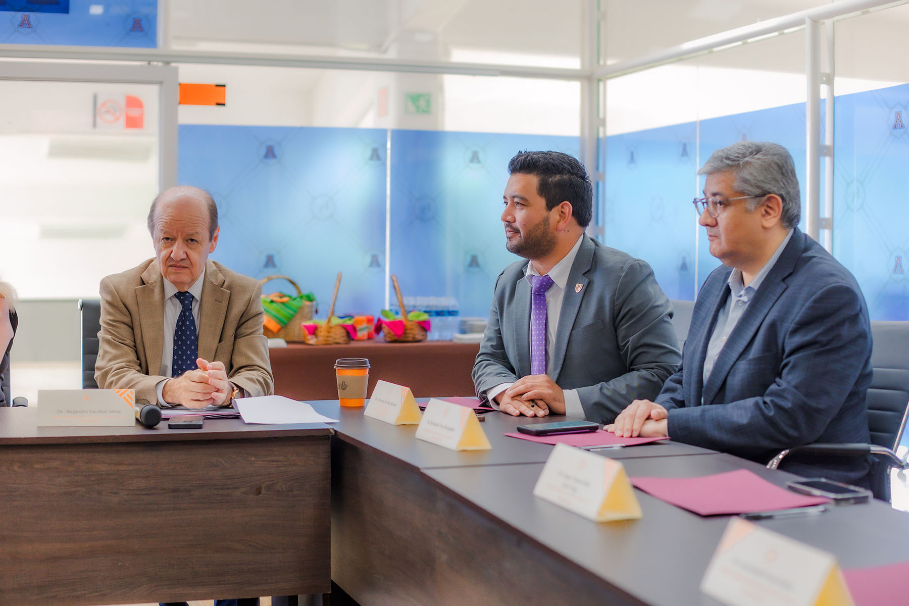
[[[675,372],[672,305],[647,263],[584,235],[593,188],[583,164],[522,152],[508,172],[505,246],[529,262],[495,283],[476,392],[513,415],[611,422]]]

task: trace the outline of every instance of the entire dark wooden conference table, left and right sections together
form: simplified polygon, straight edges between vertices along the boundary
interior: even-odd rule
[[[363,606],[717,603],[699,585],[728,516],[637,491],[643,519],[594,523],[535,499],[552,447],[503,435],[530,420],[487,413],[492,450],[453,452],[363,409],[315,409],[341,420],[330,440],[238,420],[35,429],[34,408],[0,409],[0,602],[328,591],[330,441],[331,579]],[[794,477],[673,442],[610,455],[632,476]],[[909,516],[883,502],[758,523],[844,568],[909,560]]]

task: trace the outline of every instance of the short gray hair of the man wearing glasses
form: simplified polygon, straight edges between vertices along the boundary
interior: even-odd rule
[[[802,216],[802,194],[795,176],[793,156],[780,144],[740,141],[716,150],[697,174],[733,171],[734,188],[745,195],[763,198],[776,194],[783,200],[781,219],[784,226],[794,227]],[[753,211],[758,200],[748,203]]]

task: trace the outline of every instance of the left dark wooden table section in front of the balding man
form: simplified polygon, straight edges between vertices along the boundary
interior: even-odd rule
[[[0,603],[329,591],[327,425],[35,421],[0,408]]]

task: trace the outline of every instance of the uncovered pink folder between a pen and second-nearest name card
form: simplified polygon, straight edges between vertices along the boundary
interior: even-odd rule
[[[698,478],[631,478],[636,488],[699,515],[766,512],[830,502],[796,494],[746,469]]]

